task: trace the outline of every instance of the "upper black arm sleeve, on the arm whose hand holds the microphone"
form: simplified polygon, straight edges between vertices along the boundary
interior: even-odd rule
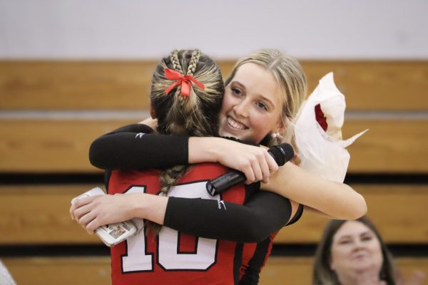
[[[89,160],[103,170],[143,170],[188,163],[188,137],[158,135],[147,125],[118,128],[94,140]]]

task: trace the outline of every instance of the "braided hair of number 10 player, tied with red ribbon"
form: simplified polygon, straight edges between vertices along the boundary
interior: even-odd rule
[[[183,96],[181,85],[168,94],[165,90],[173,83],[165,77],[165,68],[178,71],[183,76],[193,76],[205,86],[192,84],[190,94]],[[185,73],[183,71],[186,71]],[[220,68],[198,50],[173,51],[156,67],[151,82],[151,105],[158,119],[158,133],[165,135],[213,136],[217,134],[225,88]],[[188,165],[177,165],[163,170],[160,177],[161,195],[168,195],[170,187],[188,170]],[[148,222],[153,232],[161,226]]]

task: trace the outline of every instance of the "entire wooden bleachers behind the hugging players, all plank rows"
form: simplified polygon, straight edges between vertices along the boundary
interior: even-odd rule
[[[0,61],[1,177],[100,175],[88,162],[91,141],[137,120],[97,114],[111,110],[146,114],[154,66],[156,62],[143,61]],[[368,215],[385,241],[427,246],[428,184],[423,177],[428,174],[428,62],[302,61],[302,66],[309,90],[323,75],[335,72],[350,112],[344,138],[370,129],[349,148],[349,172],[356,177],[352,187],[365,196]],[[220,67],[228,74],[233,62],[220,62]],[[80,118],[83,110],[93,115]],[[49,111],[71,115],[56,118]],[[384,175],[387,182],[366,181],[365,175]],[[394,175],[407,180],[395,182]],[[423,182],[411,182],[412,175]],[[0,181],[0,249],[101,246],[68,215],[72,197],[101,184],[102,180]],[[326,222],[305,213],[297,224],[282,229],[275,244],[315,244]],[[90,252],[84,257],[0,254],[0,259],[18,284],[108,284],[110,280],[108,257]],[[309,284],[311,263],[309,257],[271,257],[261,284]],[[421,269],[428,275],[427,253],[399,257],[397,263],[405,274]],[[56,274],[49,274],[52,271]]]

